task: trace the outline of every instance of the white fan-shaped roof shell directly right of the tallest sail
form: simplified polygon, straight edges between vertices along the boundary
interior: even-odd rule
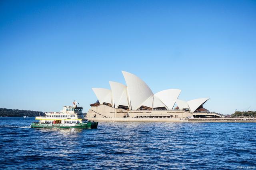
[[[175,100],[179,97],[180,92],[180,89],[167,89],[162,90],[154,95],[161,100],[167,109],[172,110],[175,104]]]

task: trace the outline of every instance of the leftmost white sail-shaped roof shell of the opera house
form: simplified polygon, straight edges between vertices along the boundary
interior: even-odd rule
[[[97,96],[100,104],[103,103],[110,103],[111,102],[111,90],[106,89],[106,88],[92,88],[92,90],[94,91],[95,95]],[[113,104],[112,104],[113,106]]]

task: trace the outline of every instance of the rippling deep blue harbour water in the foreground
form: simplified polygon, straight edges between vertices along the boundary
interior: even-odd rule
[[[0,118],[0,169],[256,169],[255,123],[99,122],[30,128]]]

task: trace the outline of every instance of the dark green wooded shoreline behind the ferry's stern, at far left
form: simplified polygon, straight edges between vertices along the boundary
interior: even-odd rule
[[[35,117],[35,116],[44,115],[44,112],[32,111],[32,110],[18,110],[18,109],[7,109],[0,108],[0,116],[2,117]]]

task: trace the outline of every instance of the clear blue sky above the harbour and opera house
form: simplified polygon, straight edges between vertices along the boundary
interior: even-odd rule
[[[121,70],[210,111],[256,110],[256,1],[0,2],[0,108],[87,112]]]

